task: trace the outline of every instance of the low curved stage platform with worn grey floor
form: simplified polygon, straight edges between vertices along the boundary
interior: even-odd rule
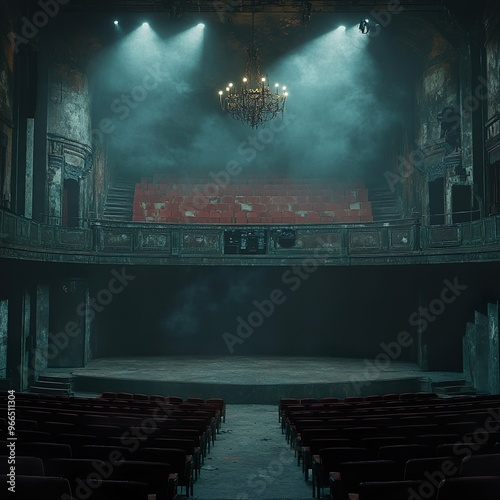
[[[279,397],[346,397],[430,390],[432,382],[454,381],[461,373],[422,372],[414,363],[332,357],[161,356],[90,361],[71,373],[75,392],[105,390],[226,397],[232,403],[276,402]]]

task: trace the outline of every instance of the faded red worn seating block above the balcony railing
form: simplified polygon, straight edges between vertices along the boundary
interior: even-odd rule
[[[250,182],[251,181],[251,182]],[[275,182],[276,181],[276,182]],[[286,182],[285,182],[286,181]],[[363,183],[333,179],[238,178],[216,185],[210,178],[158,177],[135,186],[133,220],[160,223],[317,224],[371,222]]]

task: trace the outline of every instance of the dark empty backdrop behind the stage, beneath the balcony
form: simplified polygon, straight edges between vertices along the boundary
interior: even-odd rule
[[[491,273],[477,269],[129,267],[133,279],[95,315],[93,357],[375,358],[383,344],[408,332],[415,343],[401,350],[399,361],[416,361],[420,333],[430,368],[460,371],[465,322],[483,300],[482,280]],[[94,277],[94,295],[112,272]],[[446,283],[467,288],[444,303]]]

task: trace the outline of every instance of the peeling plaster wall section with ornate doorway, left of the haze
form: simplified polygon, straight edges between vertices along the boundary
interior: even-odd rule
[[[46,50],[48,99],[47,139],[49,149],[47,175],[47,210],[51,223],[64,223],[64,182],[78,182],[78,218],[80,223],[93,211],[92,198],[92,102],[87,78],[87,45],[82,43],[77,31],[54,23],[48,36]],[[61,41],[64,40],[64,43]],[[68,202],[69,203],[69,202]],[[74,208],[72,209],[74,212]],[[69,219],[68,219],[69,222]],[[75,223],[73,220],[72,223]]]

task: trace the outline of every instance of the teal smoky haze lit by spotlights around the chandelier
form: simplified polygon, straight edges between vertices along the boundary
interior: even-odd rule
[[[227,37],[217,24],[170,36],[139,27],[100,54],[91,74],[95,121],[112,121],[104,136],[119,172],[137,179],[189,176],[216,172],[231,160],[243,172],[297,176],[366,178],[386,169],[406,92],[387,91],[398,87],[395,72],[389,78],[370,48],[382,40],[351,25],[310,32],[292,49],[277,49],[272,62],[266,47],[262,67],[270,84],[287,85],[290,95],[285,121],[277,118],[276,128],[268,124],[271,132],[262,135],[219,108],[218,90],[237,82],[245,63],[244,47],[226,43]],[[396,67],[397,59],[392,63]],[[241,153],[249,137],[262,146],[255,155]]]

